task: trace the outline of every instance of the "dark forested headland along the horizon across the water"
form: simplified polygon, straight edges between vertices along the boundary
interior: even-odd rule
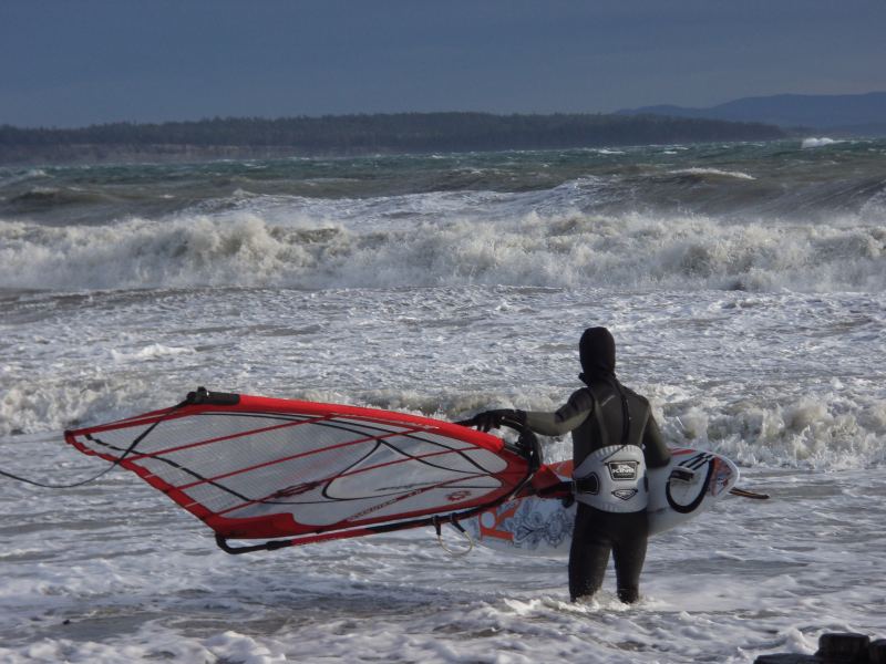
[[[0,163],[167,160],[770,141],[761,123],[656,115],[396,113],[216,117],[83,128],[0,126]]]

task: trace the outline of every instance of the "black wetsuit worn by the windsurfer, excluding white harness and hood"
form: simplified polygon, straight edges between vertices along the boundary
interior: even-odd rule
[[[670,452],[661,438],[649,402],[621,386],[612,373],[595,372],[581,377],[587,387],[576,391],[556,413],[526,413],[526,425],[547,436],[571,432],[575,468],[593,452],[610,445],[641,447],[647,468],[667,466]],[[600,588],[609,551],[612,551],[618,596],[622,602],[636,602],[648,532],[645,509],[609,512],[579,502],[569,550],[569,594],[573,601],[591,595]]]

